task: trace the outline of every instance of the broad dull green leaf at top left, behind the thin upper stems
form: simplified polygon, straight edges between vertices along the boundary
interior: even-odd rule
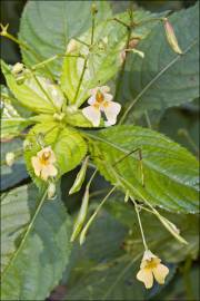
[[[24,64],[30,66],[57,54],[64,55],[69,39],[80,36],[91,26],[91,1],[51,1],[50,6],[46,1],[28,2],[22,13],[19,37],[33,49],[34,55],[21,48]],[[97,1],[96,6],[98,20],[111,16],[106,1]],[[57,78],[61,72],[61,62],[62,58],[48,67]],[[49,72],[46,71],[46,75]]]

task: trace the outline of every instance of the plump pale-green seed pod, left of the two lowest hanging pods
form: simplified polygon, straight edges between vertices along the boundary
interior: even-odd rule
[[[73,226],[73,233],[71,235],[70,242],[73,242],[77,239],[77,236],[79,235],[82,229],[82,225],[84,223],[87,212],[88,212],[88,203],[89,203],[89,187],[87,186],[83,198],[82,198],[82,204],[81,204],[77,221]]]

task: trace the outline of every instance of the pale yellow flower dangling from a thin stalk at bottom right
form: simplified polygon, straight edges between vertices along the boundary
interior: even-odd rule
[[[169,269],[160,262],[161,260],[152,254],[150,250],[144,252],[137,279],[144,283],[146,289],[152,288],[153,276],[159,284],[164,283]]]

